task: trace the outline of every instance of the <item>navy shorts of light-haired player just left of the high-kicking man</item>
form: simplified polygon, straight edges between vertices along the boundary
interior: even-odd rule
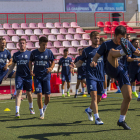
[[[88,93],[90,93],[91,91],[97,91],[97,95],[102,96],[104,90],[103,81],[95,81],[95,80],[88,79],[86,80],[86,83],[87,83]]]

